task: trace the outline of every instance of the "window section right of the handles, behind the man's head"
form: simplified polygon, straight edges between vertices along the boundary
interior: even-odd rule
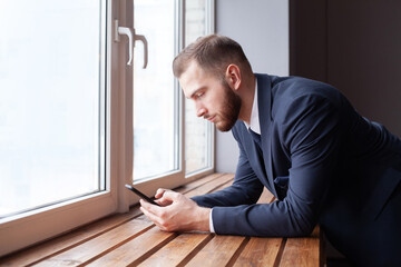
[[[172,70],[183,47],[213,32],[212,7],[207,0],[134,2],[134,24],[148,40],[149,62],[141,68],[143,47],[137,46],[133,180],[147,192],[213,170],[214,127],[195,116]]]

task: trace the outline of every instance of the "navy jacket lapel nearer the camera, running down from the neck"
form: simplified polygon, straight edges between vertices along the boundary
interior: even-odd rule
[[[272,194],[277,197],[274,187],[273,161],[272,161],[272,88],[271,78],[267,75],[256,75],[257,80],[257,105],[261,125],[261,138],[264,166],[267,174],[267,180],[272,188]]]

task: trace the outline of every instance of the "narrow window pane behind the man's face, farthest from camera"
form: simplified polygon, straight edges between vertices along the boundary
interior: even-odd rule
[[[185,1],[185,46],[206,34],[205,0]],[[212,125],[195,116],[192,100],[185,99],[185,158],[186,174],[211,167]]]

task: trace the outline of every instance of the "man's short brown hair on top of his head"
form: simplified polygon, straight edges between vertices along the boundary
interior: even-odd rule
[[[209,34],[199,37],[190,43],[173,61],[174,76],[179,78],[189,62],[195,60],[199,67],[216,77],[223,78],[228,65],[235,63],[242,71],[252,72],[239,43],[224,36]]]

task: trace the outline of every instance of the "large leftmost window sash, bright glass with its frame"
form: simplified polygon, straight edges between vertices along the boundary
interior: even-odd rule
[[[0,1],[0,256],[116,210],[110,7]]]

